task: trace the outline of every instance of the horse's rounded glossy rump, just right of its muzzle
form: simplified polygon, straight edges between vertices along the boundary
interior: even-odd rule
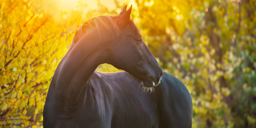
[[[191,128],[192,99],[186,86],[167,72],[157,86],[160,127]]]

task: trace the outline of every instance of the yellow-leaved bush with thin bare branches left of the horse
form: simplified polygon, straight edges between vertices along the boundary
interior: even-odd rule
[[[57,24],[43,3],[34,4],[0,4],[0,126],[41,124],[50,80],[72,42],[72,22]]]

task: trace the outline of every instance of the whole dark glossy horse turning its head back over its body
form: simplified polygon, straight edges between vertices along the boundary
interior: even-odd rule
[[[118,16],[95,17],[77,30],[50,83],[44,127],[191,127],[189,91],[159,67],[131,11],[124,6]],[[126,72],[96,72],[102,63]]]

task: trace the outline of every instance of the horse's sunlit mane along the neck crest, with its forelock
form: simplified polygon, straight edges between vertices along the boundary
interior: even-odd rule
[[[119,37],[122,34],[121,31],[119,30],[119,27],[117,26],[116,19],[119,17],[121,17],[121,15],[117,15],[117,16],[104,15],[104,16],[98,16],[93,19],[87,20],[76,30],[75,36],[73,38],[73,43],[76,43],[79,41],[82,35],[85,34],[85,30],[88,29],[88,27],[89,29],[93,29],[93,28],[97,29],[99,36],[100,36],[100,27],[104,27],[108,30],[108,32],[115,33],[115,35]],[[128,23],[132,26],[135,33],[140,33],[139,29],[136,27],[136,25],[132,20],[130,20]]]

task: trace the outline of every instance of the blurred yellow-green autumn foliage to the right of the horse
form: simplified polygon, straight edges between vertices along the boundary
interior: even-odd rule
[[[191,93],[193,127],[255,127],[255,1],[137,3],[144,40]]]

